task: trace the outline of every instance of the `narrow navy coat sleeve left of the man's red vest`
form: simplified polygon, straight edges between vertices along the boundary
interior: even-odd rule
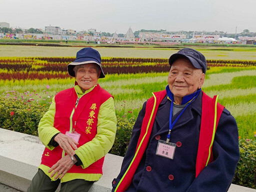
[[[128,166],[129,166],[129,164],[130,164],[130,162],[131,162],[131,160],[132,160],[132,158],[135,154],[138,138],[139,138],[139,135],[140,135],[142,121],[143,121],[143,118],[144,118],[144,115],[145,115],[145,107],[146,107],[146,102],[144,102],[143,107],[139,111],[138,117],[137,117],[137,119],[136,119],[136,121],[133,125],[129,146],[128,146],[127,151],[124,155],[120,173],[118,174],[117,178],[113,179],[115,182],[114,182],[114,184],[112,184],[112,186],[113,186],[112,191],[115,190],[116,185],[118,184],[121,177],[123,176],[123,174],[127,170]]]

